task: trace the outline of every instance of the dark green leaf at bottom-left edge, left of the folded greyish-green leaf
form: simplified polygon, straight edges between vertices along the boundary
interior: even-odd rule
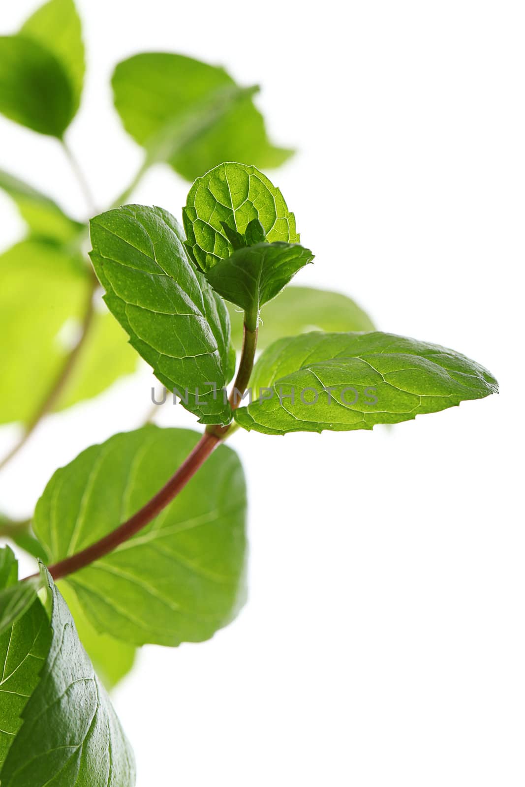
[[[16,560],[14,565],[17,570]],[[20,730],[24,708],[39,682],[50,644],[46,611],[33,594],[24,615],[0,634],[0,771]]]

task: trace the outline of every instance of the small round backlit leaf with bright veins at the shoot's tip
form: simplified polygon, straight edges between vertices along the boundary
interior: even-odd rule
[[[298,243],[295,216],[283,195],[253,166],[220,164],[195,180],[183,209],[187,249],[207,272],[234,251],[223,222],[244,235],[253,219],[263,227],[268,242]]]

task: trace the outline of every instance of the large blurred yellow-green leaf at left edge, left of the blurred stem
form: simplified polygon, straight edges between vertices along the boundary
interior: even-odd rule
[[[30,422],[54,385],[85,309],[87,274],[78,254],[42,241],[0,256],[0,423]]]

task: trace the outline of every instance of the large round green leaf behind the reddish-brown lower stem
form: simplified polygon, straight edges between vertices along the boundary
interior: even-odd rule
[[[143,427],[91,446],[58,470],[34,520],[50,559],[78,552],[138,511],[198,438]],[[134,645],[203,641],[242,604],[245,520],[242,467],[220,445],[152,523],[65,582],[98,632]]]

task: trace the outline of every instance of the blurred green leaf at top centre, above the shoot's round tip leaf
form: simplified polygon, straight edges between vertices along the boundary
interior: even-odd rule
[[[278,167],[291,150],[268,141],[253,90],[239,88],[223,68],[178,54],[145,53],[116,66],[115,106],[139,145],[188,180],[221,161]]]

